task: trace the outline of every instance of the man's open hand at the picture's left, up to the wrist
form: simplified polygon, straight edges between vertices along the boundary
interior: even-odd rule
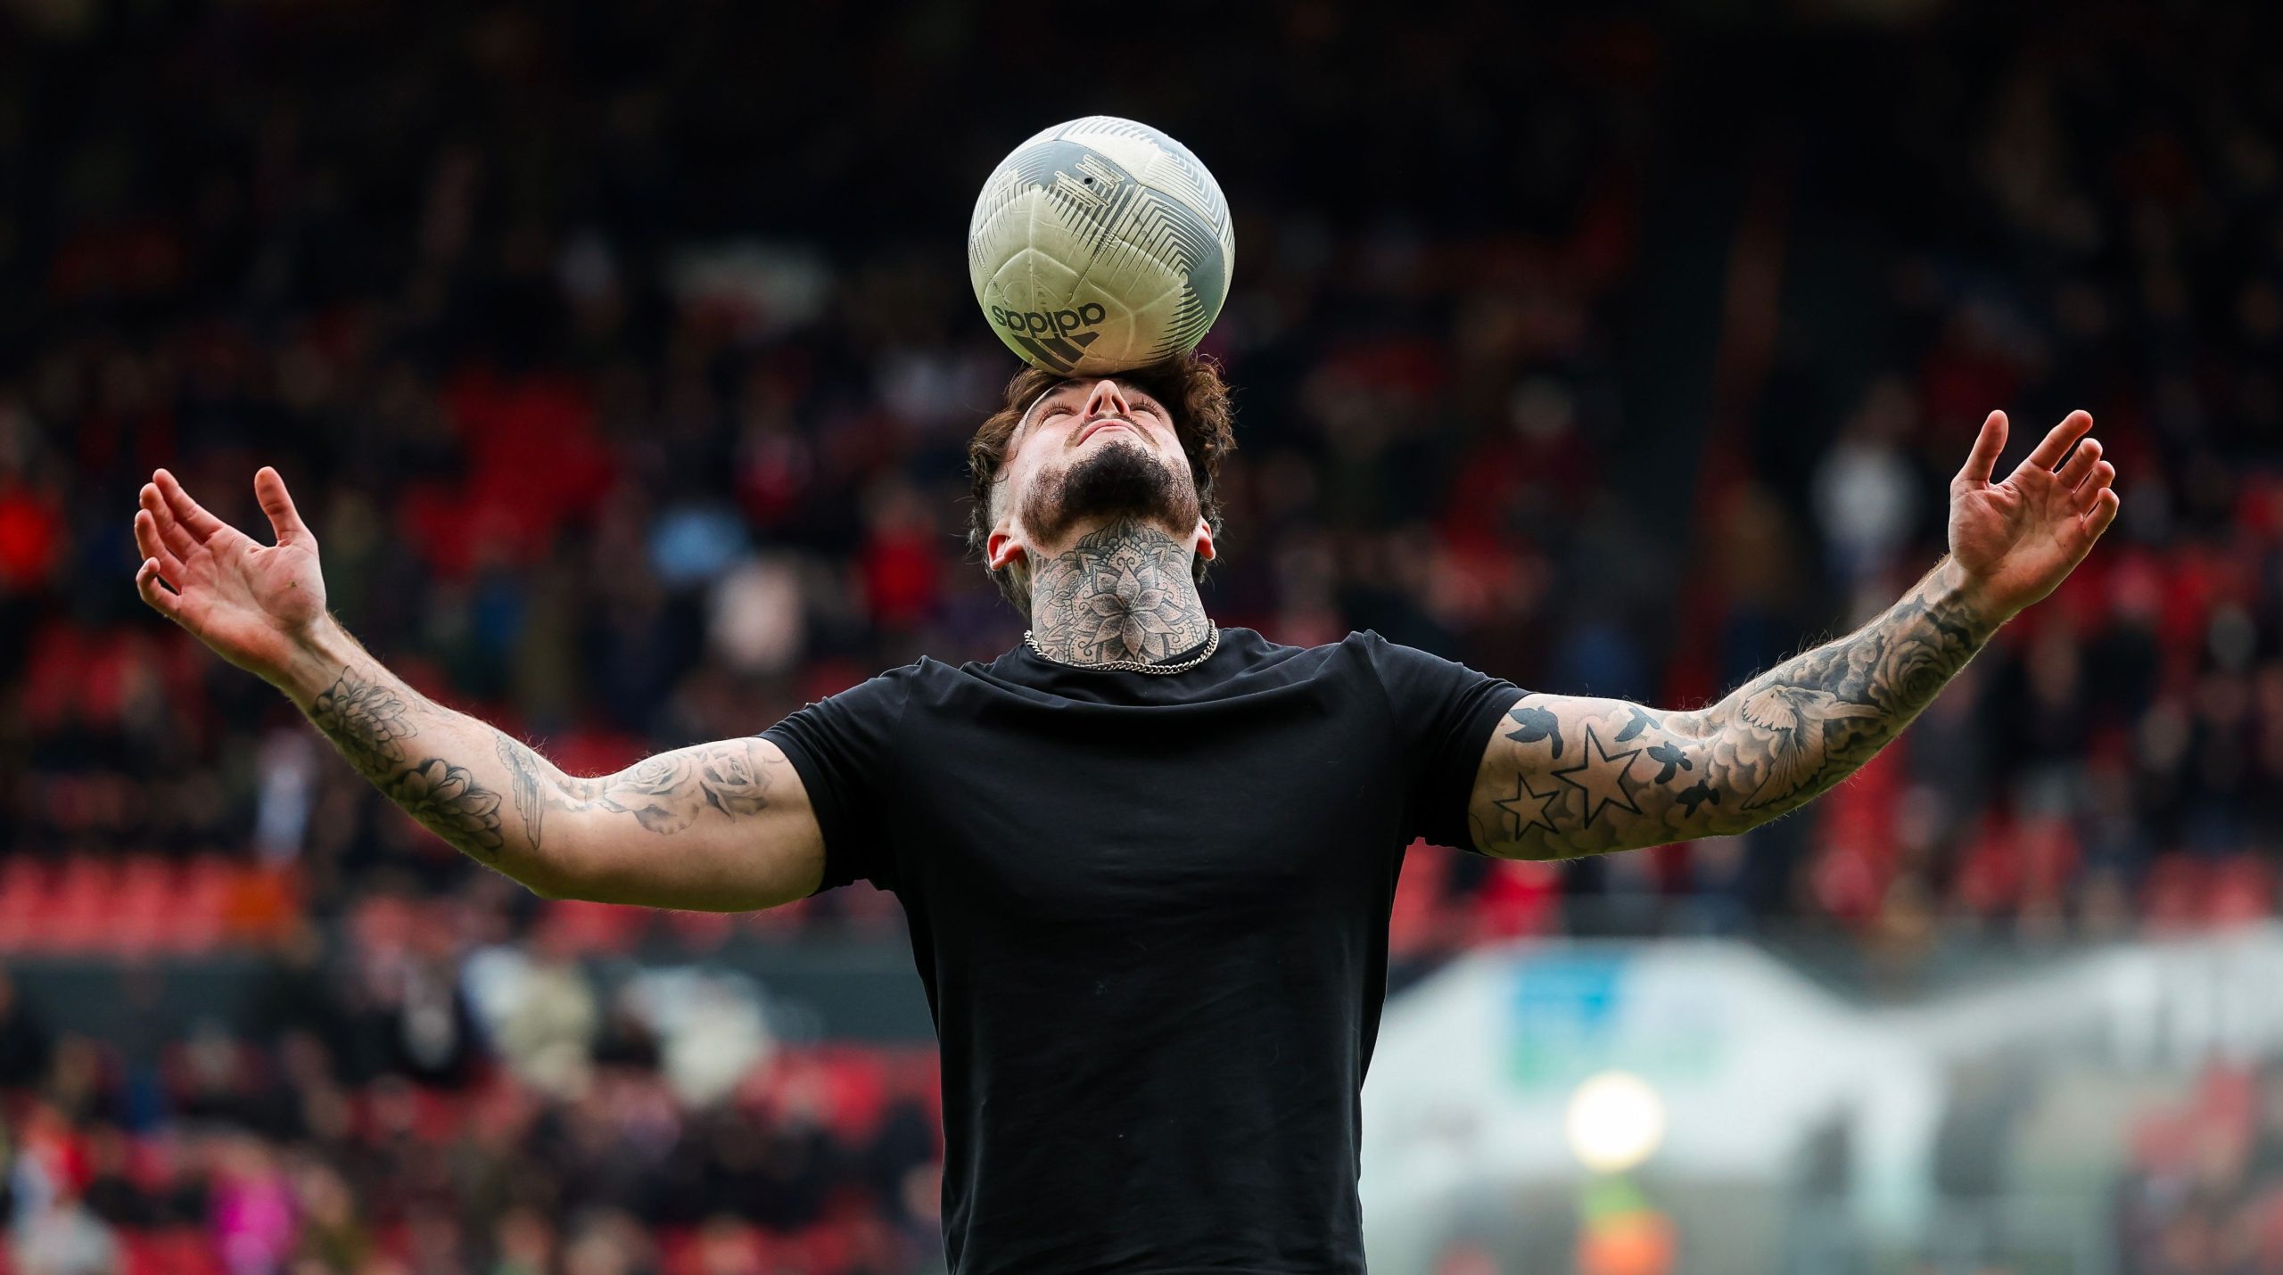
[[[135,511],[135,545],[144,554],[135,591],[215,655],[281,684],[329,623],[324,575],[317,538],[295,513],[285,479],[265,465],[253,474],[253,497],[276,545],[260,545],[201,509],[167,470],[151,474]]]

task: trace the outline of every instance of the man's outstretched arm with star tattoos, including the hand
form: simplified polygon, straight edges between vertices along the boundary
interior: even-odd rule
[[[1712,707],[1525,696],[1484,748],[1475,846],[1548,860],[1721,837],[1852,775],[2116,518],[2116,468],[2098,440],[2078,445],[2091,424],[2071,413],[1993,484],[2007,420],[1991,413],[1950,486],[1950,557],[1870,625]]]

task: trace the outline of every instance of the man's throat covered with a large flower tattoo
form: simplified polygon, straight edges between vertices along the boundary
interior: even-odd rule
[[[1030,582],[1032,639],[1062,664],[1162,664],[1212,634],[1189,545],[1135,518],[1087,531]]]

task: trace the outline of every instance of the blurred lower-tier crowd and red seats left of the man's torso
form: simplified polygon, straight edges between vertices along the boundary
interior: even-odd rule
[[[361,906],[244,1024],[100,1040],[0,972],[0,1270],[904,1275],[941,1268],[934,1051],[785,1045],[758,990]]]

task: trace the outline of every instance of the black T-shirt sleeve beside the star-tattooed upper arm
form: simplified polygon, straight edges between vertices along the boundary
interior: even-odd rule
[[[1441,655],[1363,634],[1395,714],[1397,757],[1409,775],[1404,830],[1436,846],[1475,848],[1466,805],[1491,730],[1523,698],[1504,677],[1475,673]]]

